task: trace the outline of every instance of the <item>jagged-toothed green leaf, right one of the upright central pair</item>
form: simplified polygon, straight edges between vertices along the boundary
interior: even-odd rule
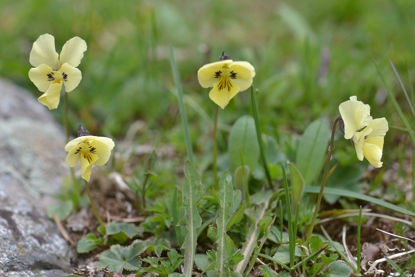
[[[225,263],[229,261],[229,254],[234,248],[234,242],[227,235],[227,230],[231,227],[232,224],[239,222],[241,211],[237,211],[232,218],[232,215],[228,214],[228,207],[234,209],[234,191],[232,188],[232,177],[227,169],[219,179],[218,190],[212,188],[212,195],[217,200],[220,206],[219,215],[216,218],[216,227],[210,226],[207,230],[207,237],[210,237],[212,240],[217,243],[217,252],[215,260],[212,261],[210,266],[206,270],[217,270],[219,271],[220,277],[223,277],[224,274],[229,271],[228,268],[225,268]],[[244,208],[242,208],[244,209]],[[243,213],[243,212],[242,212]],[[229,222],[231,222],[229,224]]]

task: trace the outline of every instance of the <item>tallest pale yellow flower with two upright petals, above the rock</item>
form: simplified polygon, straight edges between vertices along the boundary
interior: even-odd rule
[[[80,37],[73,37],[62,47],[61,54],[55,50],[55,38],[41,35],[30,51],[29,62],[34,68],[29,70],[29,78],[34,85],[44,92],[38,100],[50,110],[59,105],[62,85],[66,92],[78,87],[81,82],[81,70],[76,67],[81,63],[86,42]]]

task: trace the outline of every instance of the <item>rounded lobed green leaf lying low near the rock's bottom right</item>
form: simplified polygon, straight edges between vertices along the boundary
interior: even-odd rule
[[[146,249],[144,242],[135,240],[132,245],[122,247],[121,245],[112,245],[110,249],[105,250],[99,256],[101,260],[97,268],[107,268],[107,270],[122,271],[138,270],[141,265],[139,255]]]

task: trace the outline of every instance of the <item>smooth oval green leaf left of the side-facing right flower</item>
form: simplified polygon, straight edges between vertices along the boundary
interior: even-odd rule
[[[315,120],[305,129],[298,143],[295,164],[304,178],[305,185],[310,185],[321,169],[327,153],[328,136],[325,122]]]

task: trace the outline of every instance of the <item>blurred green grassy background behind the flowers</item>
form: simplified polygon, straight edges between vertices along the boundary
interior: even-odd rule
[[[371,105],[374,118],[384,116],[390,126],[402,126],[372,58],[409,116],[388,59],[408,88],[404,57],[415,76],[414,16],[413,0],[0,1],[0,75],[38,97],[41,92],[28,78],[33,42],[44,33],[54,35],[59,53],[67,40],[79,36],[88,50],[78,67],[83,79],[68,94],[73,133],[83,124],[94,135],[122,139],[142,120],[146,130],[157,131],[141,140],[157,138],[184,152],[168,54],[172,45],[193,148],[201,157],[212,149],[215,105],[209,89],[198,84],[197,70],[226,51],[254,65],[262,130],[285,147],[295,142],[283,141],[302,134],[315,119],[331,128],[339,104],[352,95]],[[62,122],[62,104],[52,113]],[[223,138],[244,114],[251,114],[249,92],[220,110]],[[399,159],[403,134],[390,129],[386,135],[385,164]],[[219,144],[225,153],[225,139]],[[357,161],[347,142],[340,148],[343,163]]]

